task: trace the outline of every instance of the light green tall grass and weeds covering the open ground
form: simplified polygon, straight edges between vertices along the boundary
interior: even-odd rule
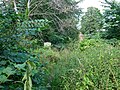
[[[40,62],[49,90],[119,90],[120,46],[101,39],[74,42],[64,50],[41,48]],[[38,88],[40,88],[38,87]],[[36,88],[37,90],[37,88]]]

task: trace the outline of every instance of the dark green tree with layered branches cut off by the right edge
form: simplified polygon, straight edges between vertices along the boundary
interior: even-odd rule
[[[106,32],[103,37],[120,39],[120,2],[105,0],[104,7]]]

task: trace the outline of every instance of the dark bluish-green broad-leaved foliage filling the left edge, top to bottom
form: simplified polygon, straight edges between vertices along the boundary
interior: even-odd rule
[[[25,86],[24,89],[28,90],[28,84],[29,89],[34,87],[34,85],[31,86],[31,82],[34,80],[32,77],[41,68],[39,54],[32,52],[39,46],[35,37],[49,25],[46,19],[25,18],[26,9],[17,14],[11,4],[4,3],[1,6],[4,10],[0,9],[0,89],[23,90],[23,86]],[[33,63],[37,67],[34,71],[31,70]],[[30,75],[27,74],[29,80],[25,78],[24,84],[22,78],[25,72]]]

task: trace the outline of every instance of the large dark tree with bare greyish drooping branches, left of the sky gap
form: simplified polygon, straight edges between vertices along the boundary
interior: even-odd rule
[[[43,41],[58,44],[77,37],[76,24],[82,13],[81,8],[77,6],[79,2],[75,0],[33,0],[31,2],[31,6],[35,8],[30,11],[29,16],[50,21],[50,28],[41,32]]]

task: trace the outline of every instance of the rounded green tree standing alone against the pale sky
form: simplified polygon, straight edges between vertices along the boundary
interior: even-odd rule
[[[102,28],[102,14],[95,7],[88,7],[81,20],[81,32],[85,34],[96,33]]]

